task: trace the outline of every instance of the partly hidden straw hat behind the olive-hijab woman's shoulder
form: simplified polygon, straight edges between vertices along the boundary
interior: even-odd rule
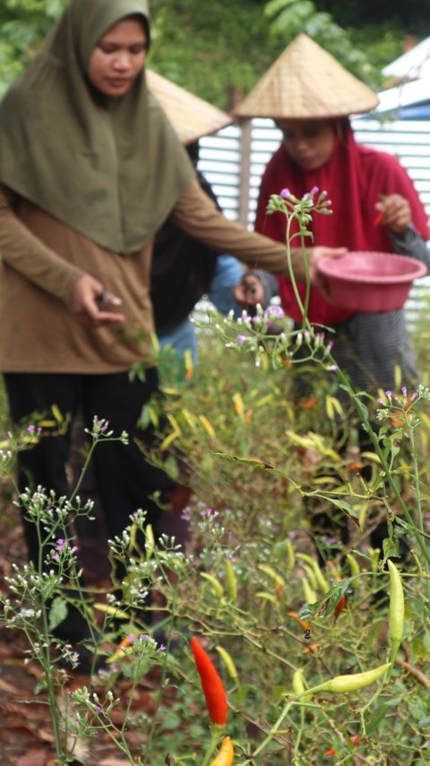
[[[216,133],[233,122],[227,112],[213,107],[209,101],[199,99],[166,77],[146,70],[150,93],[163,107],[183,144],[192,144],[202,135]]]

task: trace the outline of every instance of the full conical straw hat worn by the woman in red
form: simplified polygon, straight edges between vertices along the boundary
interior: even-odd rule
[[[374,109],[374,91],[299,34],[232,114],[241,118],[337,118]]]

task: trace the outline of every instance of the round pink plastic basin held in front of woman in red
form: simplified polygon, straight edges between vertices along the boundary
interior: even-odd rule
[[[401,309],[414,279],[427,273],[415,258],[358,251],[322,258],[317,268],[334,306],[366,312]]]

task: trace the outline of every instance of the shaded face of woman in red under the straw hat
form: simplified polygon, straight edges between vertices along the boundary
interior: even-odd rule
[[[317,170],[330,159],[334,147],[331,123],[323,119],[279,120],[288,155],[303,170]]]

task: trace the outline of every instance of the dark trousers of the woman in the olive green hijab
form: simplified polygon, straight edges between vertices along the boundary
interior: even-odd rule
[[[4,375],[10,409],[15,423],[31,413],[47,413],[56,405],[65,416],[82,413],[91,429],[94,415],[108,421],[109,431],[119,436],[127,431],[129,444],[119,441],[100,443],[91,461],[97,492],[109,537],[121,535],[136,509],[147,510],[148,522],[156,524],[159,508],[149,500],[153,492],[167,493],[172,482],[159,468],[150,466],[136,444],[149,447],[154,440],[151,429],[142,431],[136,422],[142,406],[158,388],[157,370],[147,370],[146,379],[133,380],[128,373],[73,375],[45,373],[7,373]],[[64,435],[42,436],[39,444],[19,453],[19,486],[34,489],[39,484],[58,496],[69,496],[67,464],[70,457],[71,429]],[[35,528],[23,520],[29,555],[38,561],[39,544]]]

